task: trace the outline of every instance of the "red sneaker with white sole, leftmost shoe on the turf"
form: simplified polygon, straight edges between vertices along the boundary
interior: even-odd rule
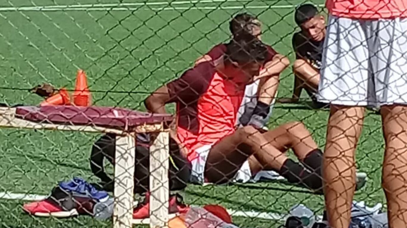
[[[74,215],[78,215],[78,211],[75,208],[65,210],[61,206],[52,203],[48,199],[44,199],[39,202],[31,202],[24,204],[23,210],[30,215],[35,215],[39,217],[57,217],[57,218],[67,218]]]

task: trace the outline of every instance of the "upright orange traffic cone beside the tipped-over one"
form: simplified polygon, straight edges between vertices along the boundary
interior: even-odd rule
[[[92,96],[88,88],[88,80],[83,70],[78,70],[75,92],[73,94],[74,105],[90,106]]]

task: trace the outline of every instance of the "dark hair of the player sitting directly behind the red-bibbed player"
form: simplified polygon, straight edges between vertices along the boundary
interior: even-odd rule
[[[252,34],[254,27],[260,27],[260,21],[249,13],[239,13],[229,22],[229,29],[233,35]]]

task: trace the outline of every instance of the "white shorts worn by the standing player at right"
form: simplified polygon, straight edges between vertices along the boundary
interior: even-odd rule
[[[330,15],[318,93],[336,105],[407,104],[407,18]]]

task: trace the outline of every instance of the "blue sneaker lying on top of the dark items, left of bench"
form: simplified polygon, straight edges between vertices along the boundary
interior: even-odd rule
[[[89,197],[98,202],[104,202],[109,198],[107,192],[95,189],[92,184],[78,177],[74,177],[69,182],[59,182],[59,187],[64,191],[72,193],[73,196]]]

